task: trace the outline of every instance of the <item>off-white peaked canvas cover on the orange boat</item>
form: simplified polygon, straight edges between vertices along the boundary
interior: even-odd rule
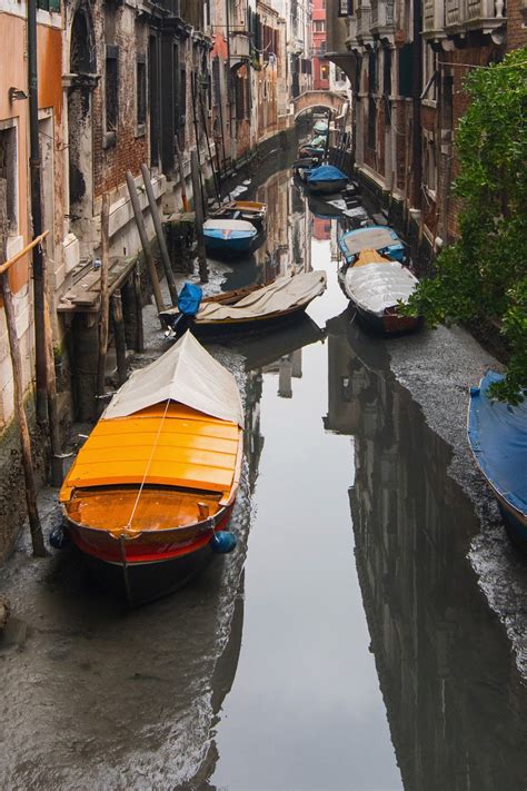
[[[190,332],[155,363],[135,370],[111,399],[102,419],[127,417],[169,398],[243,427],[235,377]]]

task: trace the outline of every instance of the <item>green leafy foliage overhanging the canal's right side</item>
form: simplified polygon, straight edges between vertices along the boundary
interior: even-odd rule
[[[510,359],[493,395],[517,403],[527,387],[527,48],[474,69],[464,87],[470,105],[456,132],[459,239],[404,310],[431,326],[497,320]]]

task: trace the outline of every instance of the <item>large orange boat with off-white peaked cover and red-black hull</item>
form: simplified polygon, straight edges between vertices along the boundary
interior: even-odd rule
[[[231,548],[242,425],[233,376],[190,333],[130,376],[59,495],[72,541],[102,586],[141,604]]]

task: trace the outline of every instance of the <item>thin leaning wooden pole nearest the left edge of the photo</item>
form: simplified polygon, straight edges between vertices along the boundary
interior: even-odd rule
[[[7,211],[7,180],[0,179],[0,266],[6,261],[6,245],[8,238],[8,211]],[[46,546],[37,507],[37,486],[34,484],[34,471],[31,457],[31,438],[29,435],[28,418],[23,408],[23,378],[22,357],[20,344],[17,335],[17,322],[14,306],[12,301],[11,287],[9,285],[9,274],[3,269],[0,274],[0,286],[3,295],[3,309],[6,312],[6,324],[8,328],[9,350],[11,353],[11,365],[13,372],[14,390],[14,416],[20,429],[20,446],[22,451],[22,468],[26,482],[26,503],[28,507],[29,528],[31,532],[31,544],[33,555],[46,556]]]

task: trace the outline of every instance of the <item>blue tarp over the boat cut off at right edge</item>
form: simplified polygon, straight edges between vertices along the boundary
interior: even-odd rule
[[[516,511],[527,516],[527,399],[510,406],[487,390],[503,376],[489,370],[470,390],[468,441],[483,474]]]

